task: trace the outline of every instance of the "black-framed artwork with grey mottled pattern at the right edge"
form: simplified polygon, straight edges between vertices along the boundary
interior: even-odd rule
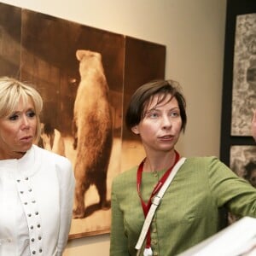
[[[239,155],[239,161],[247,163],[244,147],[255,146],[251,136],[253,109],[256,109],[256,2],[227,0],[220,159],[234,172],[242,172],[237,170],[240,165],[234,165]],[[256,160],[256,154],[251,157]]]

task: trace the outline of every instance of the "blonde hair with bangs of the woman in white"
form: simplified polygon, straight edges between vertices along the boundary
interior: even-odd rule
[[[9,116],[15,111],[18,103],[26,102],[31,99],[35,108],[37,119],[37,130],[35,142],[38,143],[41,134],[39,115],[43,109],[43,99],[31,85],[21,83],[17,79],[9,77],[0,78],[0,118]]]

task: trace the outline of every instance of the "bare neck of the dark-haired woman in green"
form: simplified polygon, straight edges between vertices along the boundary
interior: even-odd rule
[[[174,164],[175,158],[175,150],[172,150],[167,154],[147,154],[144,161],[143,172],[158,172],[167,169]]]

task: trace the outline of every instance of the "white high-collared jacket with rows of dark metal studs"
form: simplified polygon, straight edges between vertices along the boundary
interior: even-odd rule
[[[0,160],[0,255],[61,256],[72,219],[74,177],[67,158],[33,145]]]

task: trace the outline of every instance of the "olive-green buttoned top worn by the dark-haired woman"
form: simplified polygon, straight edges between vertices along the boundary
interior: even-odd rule
[[[148,202],[164,172],[143,172],[143,201]],[[111,201],[110,256],[136,255],[144,221],[137,195],[137,167],[113,179]],[[214,157],[187,159],[155,212],[151,224],[154,255],[177,255],[217,233],[222,207],[256,218],[256,189]]]

